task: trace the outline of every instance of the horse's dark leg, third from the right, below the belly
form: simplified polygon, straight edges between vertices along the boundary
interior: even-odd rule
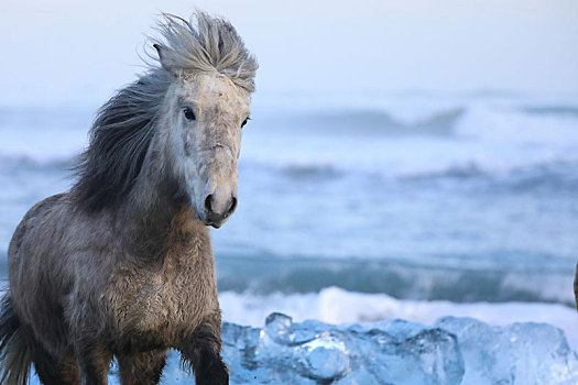
[[[80,384],[107,385],[112,353],[97,341],[80,340],[80,342],[76,348]]]

